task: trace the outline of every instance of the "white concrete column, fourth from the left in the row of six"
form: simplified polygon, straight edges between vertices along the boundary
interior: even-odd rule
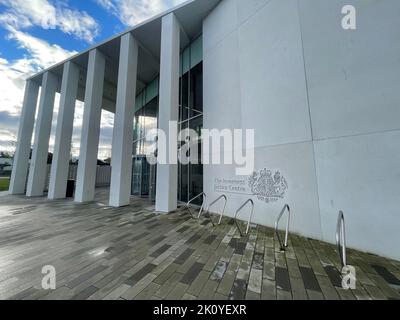
[[[98,49],[90,51],[75,190],[76,202],[94,200],[105,64],[105,57]]]

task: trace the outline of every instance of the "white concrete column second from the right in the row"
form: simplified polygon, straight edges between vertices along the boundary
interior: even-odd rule
[[[117,105],[112,143],[110,206],[129,205],[132,182],[132,138],[135,113],[138,44],[132,34],[121,38]]]

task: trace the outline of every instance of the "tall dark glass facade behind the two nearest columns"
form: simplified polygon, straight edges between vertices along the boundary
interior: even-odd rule
[[[179,127],[191,128],[201,134],[203,127],[203,45],[202,37],[191,43],[181,54],[179,88]],[[156,137],[146,139],[148,132],[158,128],[158,78],[136,97],[133,137],[132,194],[155,200],[157,166],[147,162],[155,156]],[[183,144],[183,143],[182,143]],[[201,159],[201,145],[198,148]],[[190,152],[190,150],[189,150]],[[187,202],[203,191],[203,165],[179,165],[178,200]]]

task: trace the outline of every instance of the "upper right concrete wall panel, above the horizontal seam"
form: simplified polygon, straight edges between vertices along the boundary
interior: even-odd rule
[[[351,1],[344,30],[348,2],[299,1],[314,139],[400,129],[400,1]]]

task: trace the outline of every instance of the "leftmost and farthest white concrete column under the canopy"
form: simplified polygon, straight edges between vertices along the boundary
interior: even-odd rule
[[[18,129],[17,148],[15,150],[9,188],[10,194],[13,195],[25,193],[38,94],[39,84],[28,80],[25,86],[25,96]]]

